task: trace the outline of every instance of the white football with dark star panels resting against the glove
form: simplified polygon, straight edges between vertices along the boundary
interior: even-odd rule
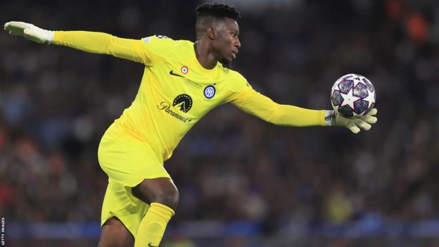
[[[374,108],[374,85],[362,75],[343,75],[332,86],[331,105],[345,118],[362,116]]]

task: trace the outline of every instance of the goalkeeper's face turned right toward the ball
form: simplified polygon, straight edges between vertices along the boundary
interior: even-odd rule
[[[215,56],[225,67],[229,67],[241,47],[238,23],[234,19],[224,18],[224,21],[215,23],[214,30],[215,39],[212,46]]]

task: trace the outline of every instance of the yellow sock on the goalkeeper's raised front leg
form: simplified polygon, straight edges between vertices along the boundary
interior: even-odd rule
[[[151,207],[140,222],[134,247],[158,246],[172,215],[174,215],[172,208],[160,203],[151,203]]]

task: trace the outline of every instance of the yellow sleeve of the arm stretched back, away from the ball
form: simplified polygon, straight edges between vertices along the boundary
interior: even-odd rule
[[[122,39],[103,32],[85,31],[56,31],[52,41],[52,44],[150,65],[151,56],[144,43],[142,39]]]

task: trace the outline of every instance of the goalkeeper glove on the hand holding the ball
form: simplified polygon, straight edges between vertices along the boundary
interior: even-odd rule
[[[378,120],[375,117],[376,113],[378,113],[378,110],[373,108],[361,117],[344,118],[334,110],[326,110],[325,122],[327,126],[344,126],[357,134],[360,132],[360,128],[369,130],[372,127],[370,124],[374,124]]]

